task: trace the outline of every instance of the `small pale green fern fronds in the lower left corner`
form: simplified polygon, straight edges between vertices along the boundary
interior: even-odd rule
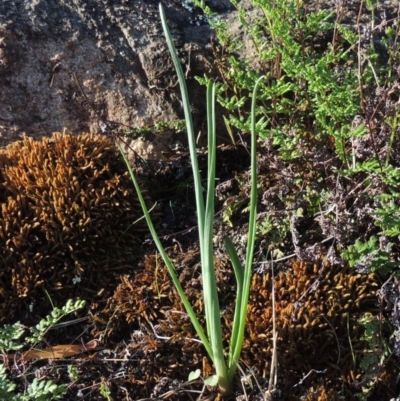
[[[0,328],[0,351],[6,354],[10,351],[20,351],[26,342],[37,344],[43,341],[44,335],[64,316],[76,312],[85,306],[85,301],[68,300],[62,308],[53,308],[50,315],[42,319],[39,324],[30,328],[30,336],[23,338],[26,328],[20,323],[4,325]],[[71,371],[72,372],[72,371]],[[34,378],[28,384],[26,391],[17,393],[17,384],[10,380],[3,364],[0,364],[0,400],[4,401],[51,401],[61,400],[67,391],[67,386],[56,384],[52,380],[39,380]]]

